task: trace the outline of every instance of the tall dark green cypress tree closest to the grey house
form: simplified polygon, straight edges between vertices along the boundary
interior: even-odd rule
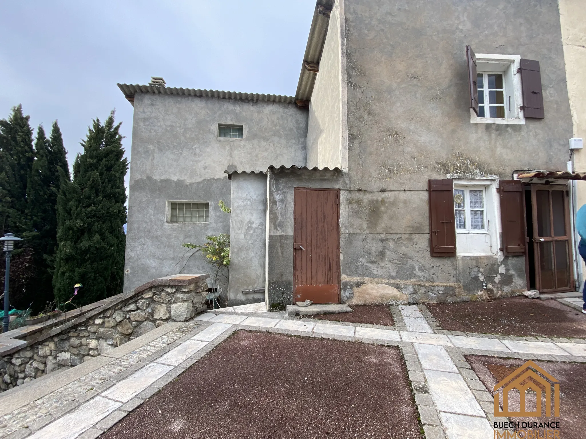
[[[82,283],[76,304],[87,304],[122,292],[124,276],[126,191],[120,124],[114,111],[99,119],[81,142],[83,154],[73,164],[73,180],[62,180],[57,197],[57,254],[53,286],[63,303]]]

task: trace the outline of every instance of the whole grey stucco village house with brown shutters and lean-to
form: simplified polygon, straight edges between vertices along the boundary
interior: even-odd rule
[[[575,291],[562,35],[555,0],[318,0],[294,97],[118,84],[124,290],[229,234],[230,305]]]

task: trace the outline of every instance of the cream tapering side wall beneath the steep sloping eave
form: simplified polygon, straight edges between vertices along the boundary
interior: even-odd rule
[[[319,74],[309,104],[307,166],[342,167],[342,59],[340,2],[330,14],[328,35],[319,61]]]

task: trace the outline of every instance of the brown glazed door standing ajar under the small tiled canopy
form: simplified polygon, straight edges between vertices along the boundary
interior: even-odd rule
[[[567,187],[532,184],[535,277],[540,293],[573,290]]]

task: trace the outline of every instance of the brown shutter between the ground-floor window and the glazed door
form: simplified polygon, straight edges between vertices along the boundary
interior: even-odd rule
[[[523,184],[519,180],[500,180],[500,224],[506,256],[525,254],[525,214]]]

